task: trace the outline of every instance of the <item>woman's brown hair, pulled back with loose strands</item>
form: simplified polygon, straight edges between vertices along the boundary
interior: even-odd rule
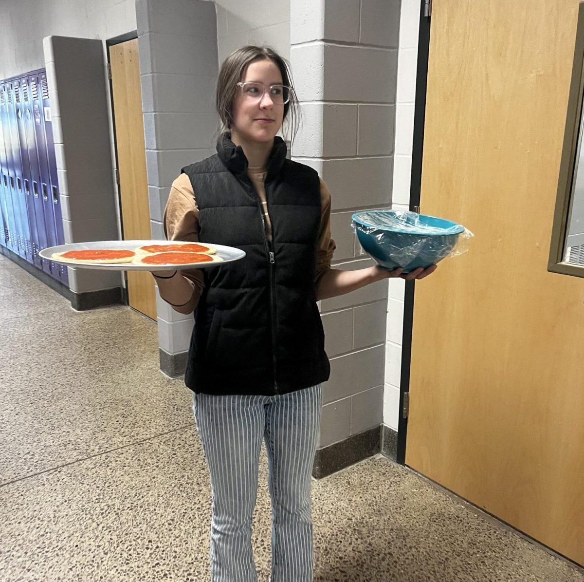
[[[282,83],[292,86],[292,75],[288,62],[276,53],[273,48],[246,46],[233,51],[221,65],[219,78],[217,79],[217,91],[215,92],[217,113],[221,118],[221,133],[229,131],[233,123],[233,104],[237,96],[238,82],[242,80],[246,69],[251,63],[265,60],[273,61],[280,70]],[[288,117],[288,112],[290,117]],[[287,123],[286,129],[291,129],[290,139],[294,138],[298,131],[299,113],[298,99],[294,89],[292,89],[290,91],[290,101],[284,105],[284,122]]]

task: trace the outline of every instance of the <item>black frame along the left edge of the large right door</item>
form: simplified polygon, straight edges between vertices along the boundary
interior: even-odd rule
[[[428,59],[430,52],[431,0],[420,0],[420,19],[418,33],[418,64],[416,68],[416,95],[413,113],[412,174],[410,180],[409,209],[416,211],[420,206],[422,188],[422,157],[424,150],[424,126],[426,119],[426,88]],[[408,418],[404,415],[406,394],[409,395],[410,369],[412,361],[413,301],[416,284],[405,282],[404,294],[404,332],[402,335],[402,363],[399,382],[399,420],[396,460],[405,465]]]

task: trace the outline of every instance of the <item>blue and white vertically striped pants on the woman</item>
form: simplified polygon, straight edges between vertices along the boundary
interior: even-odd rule
[[[211,581],[257,582],[251,543],[262,438],[272,497],[271,582],[312,582],[310,475],[321,387],[279,396],[194,394],[211,474]]]

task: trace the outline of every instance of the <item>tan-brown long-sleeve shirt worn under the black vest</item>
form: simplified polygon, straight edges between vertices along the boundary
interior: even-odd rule
[[[267,212],[266,189],[264,186],[265,169],[248,168],[248,175],[262,202],[266,219],[266,235],[271,240],[272,224]],[[197,208],[193,186],[186,174],[181,174],[172,183],[164,211],[164,234],[167,240],[199,242],[199,209]],[[213,243],[213,241],[206,242]],[[331,193],[321,180],[321,225],[315,257],[315,286],[318,285],[318,281],[325,271],[331,268],[334,251],[335,241],[331,238]],[[182,309],[194,310],[204,289],[203,272],[200,269],[193,269],[192,271],[181,271],[181,273],[193,286],[193,295],[189,302],[182,306]]]

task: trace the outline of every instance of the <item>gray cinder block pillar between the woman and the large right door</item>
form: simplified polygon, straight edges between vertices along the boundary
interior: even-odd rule
[[[399,0],[291,0],[291,64],[304,125],[293,158],[332,194],[335,266],[359,256],[354,210],[392,202]],[[321,305],[331,380],[324,386],[319,449],[383,420],[388,283]]]

